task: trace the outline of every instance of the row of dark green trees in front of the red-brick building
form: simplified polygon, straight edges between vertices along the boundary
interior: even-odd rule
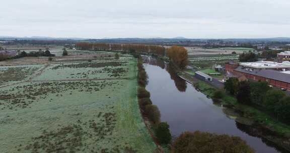
[[[237,78],[230,78],[225,90],[235,96],[238,103],[262,108],[277,120],[290,124],[290,97],[270,88],[267,82],[239,82]]]

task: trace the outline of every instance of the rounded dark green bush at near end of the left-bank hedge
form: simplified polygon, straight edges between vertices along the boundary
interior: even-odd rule
[[[168,144],[171,142],[171,134],[167,122],[159,123],[155,130],[155,133],[159,143]]]

